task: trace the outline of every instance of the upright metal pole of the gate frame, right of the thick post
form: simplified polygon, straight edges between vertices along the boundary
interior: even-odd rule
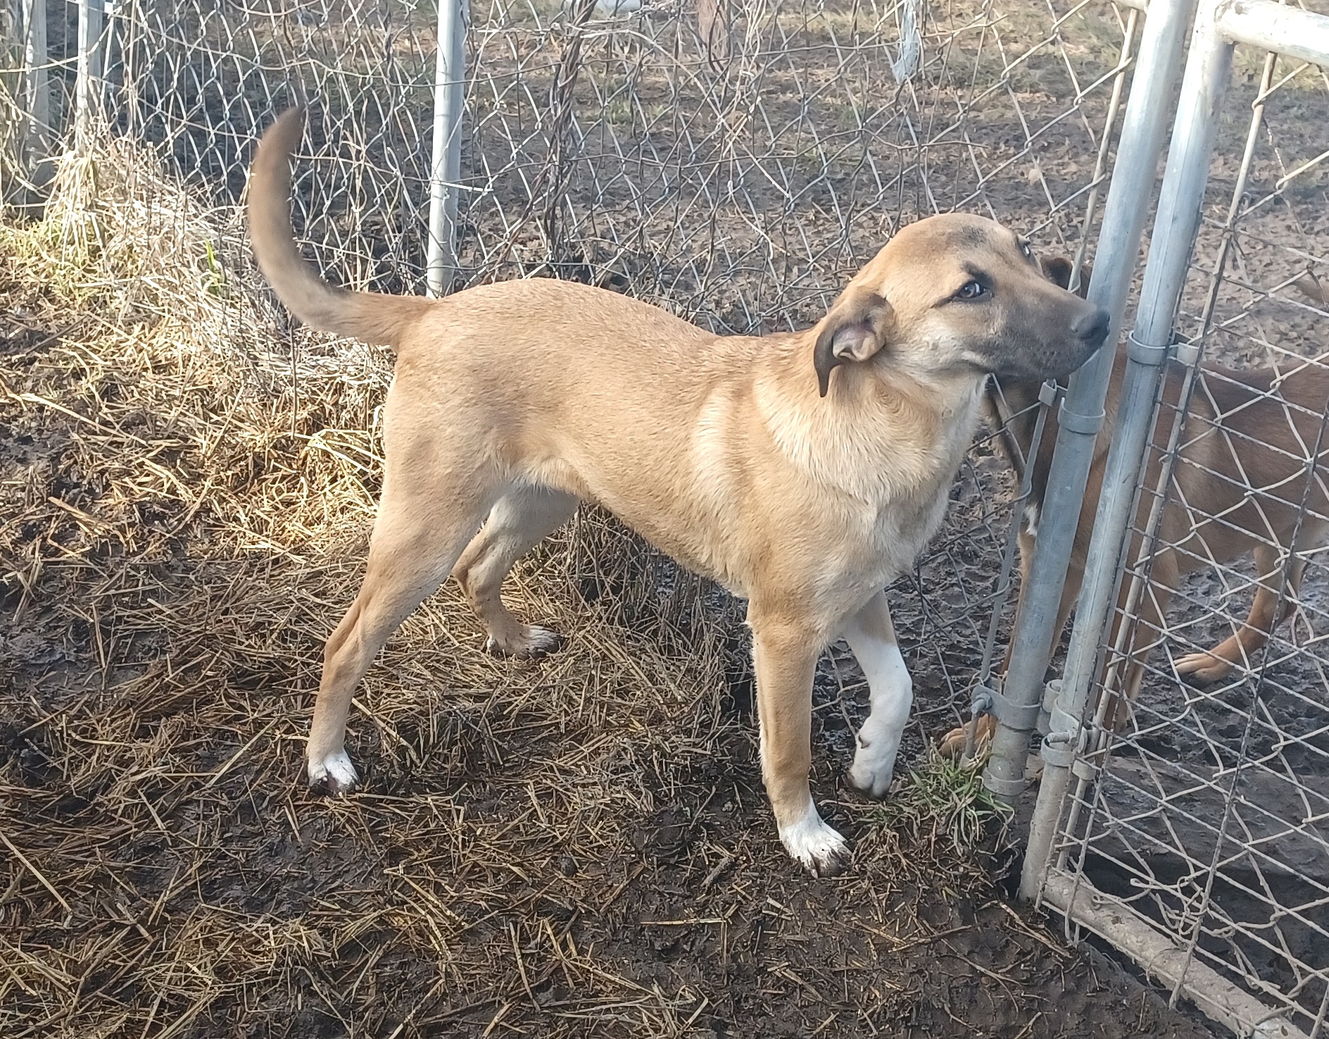
[[[1167,170],[1159,194],[1144,286],[1130,335],[1116,431],[1107,456],[1094,535],[1050,732],[1043,740],[1043,778],[1030,823],[1021,894],[1038,894],[1082,732],[1094,681],[1098,647],[1112,607],[1116,568],[1135,508],[1135,484],[1154,418],[1154,398],[1172,338],[1172,322],[1185,283],[1191,249],[1217,132],[1219,105],[1232,67],[1232,44],[1223,40],[1217,13],[1224,0],[1201,0]],[[1078,519],[1078,518],[1076,518]]]

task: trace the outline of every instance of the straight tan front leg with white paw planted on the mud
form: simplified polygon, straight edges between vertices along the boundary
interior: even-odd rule
[[[815,877],[849,865],[849,846],[821,821],[808,789],[812,768],[812,672],[821,641],[805,627],[754,616],[762,778],[785,850]]]

